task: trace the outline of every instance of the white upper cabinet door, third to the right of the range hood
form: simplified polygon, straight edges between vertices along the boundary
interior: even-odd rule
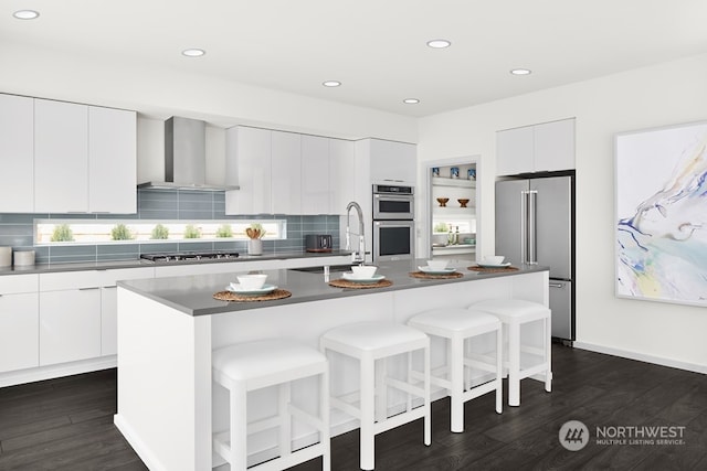
[[[329,140],[302,137],[302,214],[330,214]]]

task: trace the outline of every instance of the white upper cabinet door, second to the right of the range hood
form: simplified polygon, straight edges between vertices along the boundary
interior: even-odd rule
[[[302,135],[272,131],[272,214],[302,214]]]

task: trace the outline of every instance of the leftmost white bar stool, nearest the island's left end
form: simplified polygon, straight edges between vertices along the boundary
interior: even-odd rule
[[[213,449],[231,464],[231,470],[247,468],[249,433],[279,428],[279,457],[247,468],[250,471],[275,471],[291,468],[318,456],[323,470],[330,469],[329,377],[326,356],[316,349],[284,339],[240,343],[212,353],[213,381],[230,393],[230,430],[214,433]],[[314,416],[291,404],[291,382],[319,376],[319,413]],[[278,413],[247,422],[247,393],[278,385]],[[292,421],[314,427],[319,442],[292,451]]]

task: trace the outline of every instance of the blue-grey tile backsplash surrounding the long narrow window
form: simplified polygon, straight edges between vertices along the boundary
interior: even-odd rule
[[[267,253],[286,253],[302,250],[307,234],[331,234],[334,247],[339,245],[339,216],[292,216],[292,215],[225,215],[224,192],[199,192],[189,190],[150,190],[139,189],[137,195],[137,214],[0,214],[0,246],[9,245],[15,250],[36,250],[38,264],[62,264],[72,261],[109,261],[137,259],[140,254],[180,250],[232,250],[245,254],[246,242],[203,242],[203,243],[166,243],[166,244],[130,244],[130,245],[81,245],[34,247],[34,220],[51,218],[86,218],[86,220],[171,220],[171,221],[208,221],[208,220],[287,220],[287,238],[282,240],[263,240],[263,249]]]

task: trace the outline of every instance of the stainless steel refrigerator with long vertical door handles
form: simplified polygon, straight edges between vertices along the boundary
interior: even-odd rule
[[[574,175],[496,182],[496,254],[550,267],[552,336],[574,341]]]

